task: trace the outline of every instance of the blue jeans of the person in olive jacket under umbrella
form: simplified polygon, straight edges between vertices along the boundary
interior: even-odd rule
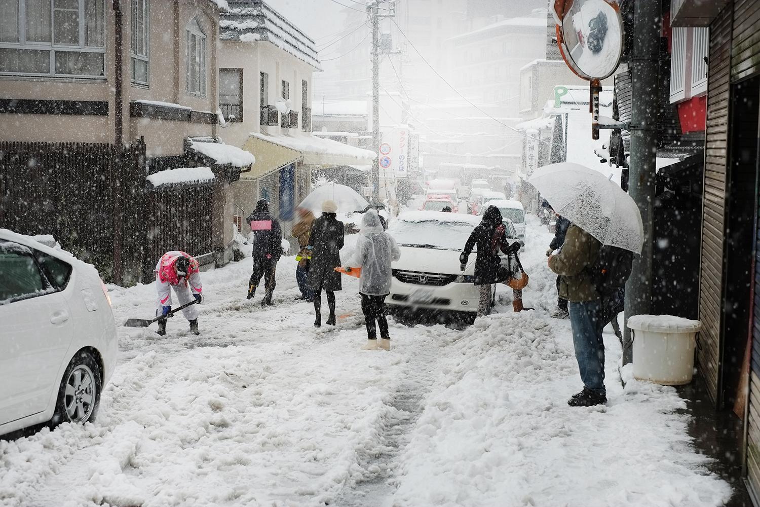
[[[600,302],[568,303],[575,359],[581,371],[583,385],[599,395],[606,395],[604,388],[604,342]]]

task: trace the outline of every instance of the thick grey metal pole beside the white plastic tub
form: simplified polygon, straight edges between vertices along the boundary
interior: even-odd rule
[[[625,322],[631,315],[651,313],[652,253],[655,197],[654,176],[657,157],[657,109],[660,87],[660,2],[634,2],[633,51],[630,58],[633,81],[631,115],[631,163],[629,194],[638,204],[644,223],[644,247],[634,258],[625,284]],[[633,361],[631,331],[625,326],[623,364]]]

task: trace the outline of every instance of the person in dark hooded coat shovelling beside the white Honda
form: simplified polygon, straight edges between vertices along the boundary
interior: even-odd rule
[[[478,303],[477,313],[479,316],[483,316],[491,312],[492,285],[504,282],[512,276],[502,267],[502,258],[499,257],[499,252],[504,252],[506,255],[516,255],[520,249],[520,243],[515,242],[511,246],[509,245],[505,226],[502,223],[502,213],[496,206],[489,206],[483,214],[483,220],[470,233],[464,250],[459,255],[462,266],[467,265],[467,259],[476,245],[474,283],[480,286],[480,303]],[[512,306],[515,312],[526,310],[527,308],[522,306],[522,290],[513,289],[513,296]]]

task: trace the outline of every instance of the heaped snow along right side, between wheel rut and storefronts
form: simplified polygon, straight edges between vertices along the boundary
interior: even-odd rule
[[[568,321],[478,319],[445,349],[402,458],[397,505],[723,505],[686,434],[676,390],[619,382],[605,334],[606,406],[569,407],[581,387]]]

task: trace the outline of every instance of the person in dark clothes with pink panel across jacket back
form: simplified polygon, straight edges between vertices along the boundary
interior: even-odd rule
[[[269,201],[266,199],[259,199],[255,210],[245,221],[253,231],[253,273],[248,284],[248,299],[255,295],[256,286],[263,276],[266,293],[261,299],[261,306],[271,306],[274,304],[272,294],[276,284],[277,261],[283,252],[280,222],[269,213]]]

